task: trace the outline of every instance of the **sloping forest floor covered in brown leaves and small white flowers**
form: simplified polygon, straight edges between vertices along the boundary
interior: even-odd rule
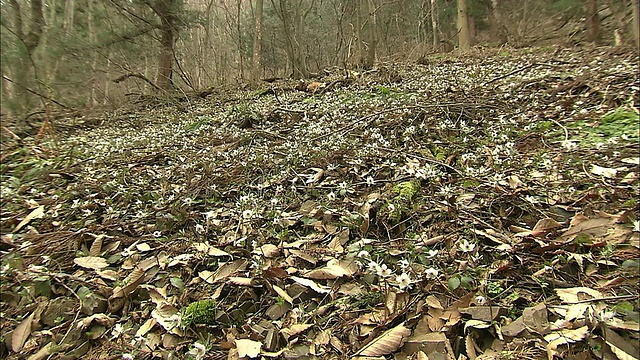
[[[637,359],[639,93],[484,50],[7,127],[0,356]]]

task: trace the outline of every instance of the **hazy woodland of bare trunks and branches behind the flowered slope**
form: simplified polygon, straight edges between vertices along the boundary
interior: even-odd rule
[[[474,46],[640,48],[638,0],[0,0],[2,113]]]

